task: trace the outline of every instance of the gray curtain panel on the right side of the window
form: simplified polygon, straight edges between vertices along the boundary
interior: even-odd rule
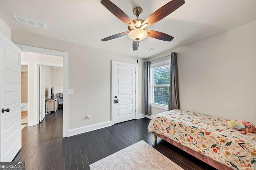
[[[174,52],[171,55],[170,97],[168,111],[172,109],[180,109],[177,53]]]

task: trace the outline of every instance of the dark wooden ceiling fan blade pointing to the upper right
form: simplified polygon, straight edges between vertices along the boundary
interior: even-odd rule
[[[151,14],[142,23],[142,26],[146,23],[148,23],[146,27],[155,24],[156,22],[162,20],[164,17],[168,16],[169,14],[180,8],[180,6],[182,6],[184,3],[184,0],[172,0],[171,2],[168,2],[167,4],[156,10],[153,14]]]

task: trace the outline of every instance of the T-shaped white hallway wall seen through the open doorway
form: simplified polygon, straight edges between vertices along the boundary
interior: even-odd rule
[[[38,124],[38,121],[36,121],[38,103],[35,102],[37,94],[33,90],[37,88],[34,82],[38,82],[38,75],[36,75],[35,71],[38,69],[38,63],[63,64],[63,59],[53,55],[22,52],[21,62],[28,63],[28,126],[31,126]]]

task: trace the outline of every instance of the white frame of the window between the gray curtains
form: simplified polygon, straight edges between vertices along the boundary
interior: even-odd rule
[[[165,61],[160,61],[150,65],[150,105],[151,107],[156,107],[158,109],[168,110],[168,105],[162,105],[159,103],[154,103],[154,87],[170,87],[169,85],[154,85],[154,68],[170,66],[170,59]]]

